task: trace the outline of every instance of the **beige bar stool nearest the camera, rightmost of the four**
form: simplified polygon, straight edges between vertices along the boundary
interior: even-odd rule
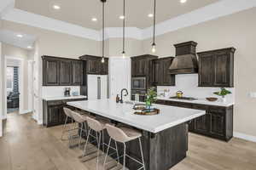
[[[124,144],[124,155],[120,156],[120,157],[124,157],[124,166],[123,166],[123,170],[125,170],[125,158],[126,156],[131,158],[133,161],[137,161],[137,163],[139,163],[140,165],[142,165],[142,167],[139,167],[139,169],[144,169],[145,170],[145,163],[144,163],[144,158],[143,158],[143,147],[142,147],[142,141],[141,141],[141,137],[142,137],[142,133],[138,132],[137,130],[131,129],[131,128],[127,128],[127,127],[114,127],[113,125],[106,125],[108,134],[110,136],[109,142],[108,142],[108,150],[111,144],[111,140],[113,139],[116,144],[117,142],[123,143]],[[126,154],[126,144],[127,142],[130,142],[131,140],[134,139],[138,139],[139,140],[139,145],[140,145],[140,152],[141,152],[141,156],[142,156],[142,161],[138,161],[137,159],[128,156]],[[103,167],[105,168],[105,164],[107,161],[107,157],[108,157],[108,150],[107,150],[107,154],[105,156],[105,160],[103,163]],[[118,148],[116,146],[116,151],[117,151],[117,155],[118,155]],[[118,155],[118,161],[119,161],[119,155]],[[119,162],[118,162],[119,163]]]

